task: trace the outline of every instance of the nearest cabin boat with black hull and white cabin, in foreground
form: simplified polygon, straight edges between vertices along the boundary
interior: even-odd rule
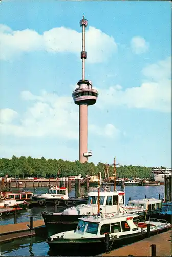
[[[171,228],[167,221],[153,219],[146,222],[138,220],[138,214],[110,213],[87,216],[78,219],[76,230],[56,233],[46,240],[50,248],[63,251],[63,254],[77,252],[84,254],[96,249],[104,252],[109,245],[120,246],[141,240],[146,233],[151,235]],[[148,230],[149,224],[149,231]],[[108,237],[108,239],[107,239]]]

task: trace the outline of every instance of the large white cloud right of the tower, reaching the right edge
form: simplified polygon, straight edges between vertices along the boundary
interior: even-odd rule
[[[119,85],[98,89],[96,106],[107,105],[146,108],[162,112],[171,111],[171,57],[142,70],[145,82],[138,87],[122,89]]]

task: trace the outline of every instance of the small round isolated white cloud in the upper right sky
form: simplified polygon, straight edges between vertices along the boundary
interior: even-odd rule
[[[149,49],[149,43],[145,41],[141,36],[134,36],[130,42],[132,52],[135,54],[141,54],[147,52]]]

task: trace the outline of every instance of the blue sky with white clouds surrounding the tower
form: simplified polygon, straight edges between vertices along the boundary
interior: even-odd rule
[[[83,14],[89,161],[171,167],[170,1],[1,1],[0,157],[78,159]]]

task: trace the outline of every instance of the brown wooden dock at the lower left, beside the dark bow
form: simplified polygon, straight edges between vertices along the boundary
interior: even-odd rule
[[[44,236],[47,234],[43,219],[33,221],[33,229],[30,229],[30,225],[30,222],[0,225],[0,243],[21,237],[29,237],[34,235]]]

